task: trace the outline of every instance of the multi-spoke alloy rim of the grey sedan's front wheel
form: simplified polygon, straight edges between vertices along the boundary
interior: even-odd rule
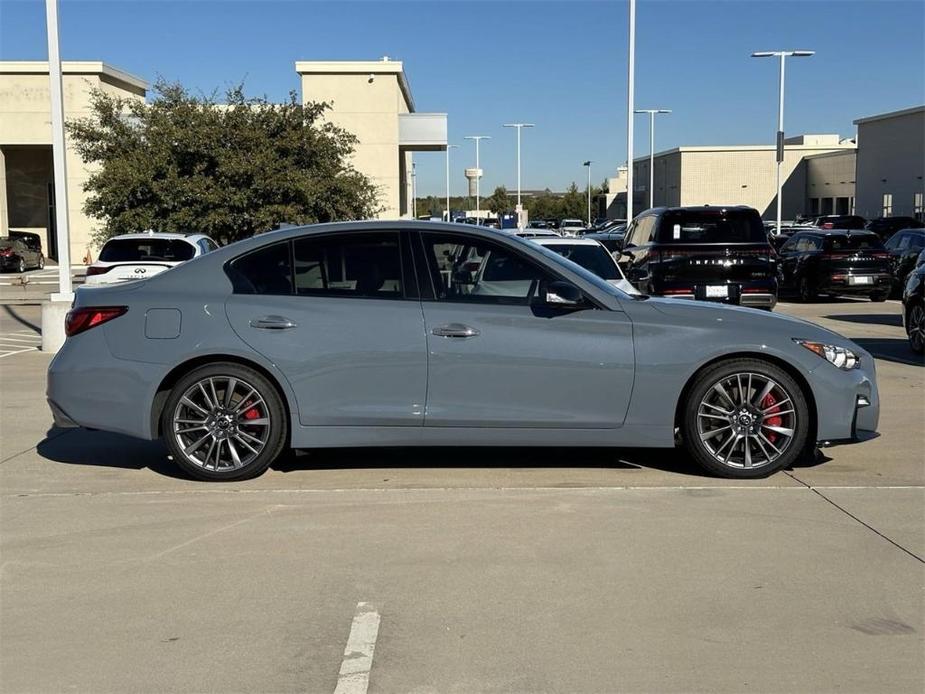
[[[697,408],[697,433],[707,452],[725,466],[772,465],[790,447],[798,421],[790,394],[753,372],[716,381]]]

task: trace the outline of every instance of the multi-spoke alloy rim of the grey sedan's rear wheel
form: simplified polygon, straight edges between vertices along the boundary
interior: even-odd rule
[[[237,470],[267,445],[270,411],[257,389],[234,376],[209,376],[186,389],[173,413],[183,456],[204,470]]]

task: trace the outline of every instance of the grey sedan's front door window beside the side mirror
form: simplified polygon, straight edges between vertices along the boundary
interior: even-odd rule
[[[538,265],[498,244],[421,234],[438,300],[527,304],[547,278]]]

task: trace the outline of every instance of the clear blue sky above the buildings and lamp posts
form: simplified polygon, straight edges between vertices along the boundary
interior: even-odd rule
[[[591,2],[145,2],[62,0],[65,60],[103,60],[212,91],[244,80],[254,95],[298,89],[296,60],[404,61],[420,111],[449,114],[452,190],[474,164],[463,135],[486,134],[482,190],[583,187],[626,159],[627,4]],[[852,120],[925,102],[925,2],[654,2],[637,9],[636,105],[660,116],[656,149],[773,141],[777,63],[755,50],[806,48],[788,63],[788,134],[854,134]],[[42,0],[0,0],[0,59],[47,57]],[[636,156],[648,151],[644,116]],[[422,153],[419,194],[442,194],[442,153]]]

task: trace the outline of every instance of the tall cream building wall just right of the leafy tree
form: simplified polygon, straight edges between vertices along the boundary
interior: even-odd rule
[[[409,214],[411,152],[399,149],[399,114],[414,111],[399,61],[296,63],[302,101],[331,104],[327,119],[356,135],[352,163],[379,189],[381,219]]]

